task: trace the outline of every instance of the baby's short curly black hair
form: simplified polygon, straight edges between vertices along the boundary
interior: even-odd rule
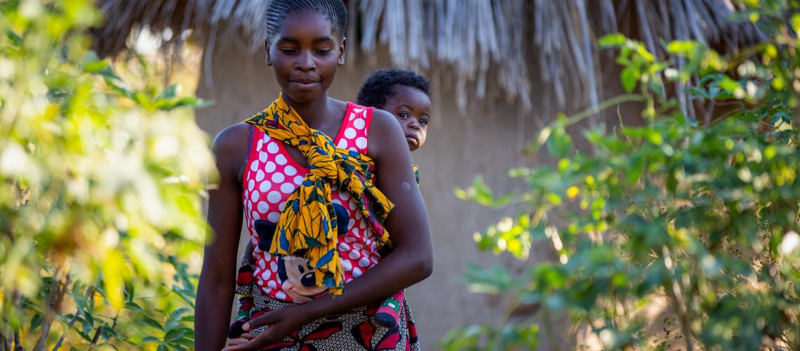
[[[387,68],[371,73],[358,91],[358,105],[383,107],[393,93],[394,86],[410,86],[430,96],[430,80],[410,70]]]

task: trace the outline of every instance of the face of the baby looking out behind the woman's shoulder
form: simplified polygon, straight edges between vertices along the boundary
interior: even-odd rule
[[[406,142],[411,151],[425,144],[430,122],[430,98],[422,90],[410,86],[392,87],[392,95],[386,99],[382,110],[389,111],[398,118]]]

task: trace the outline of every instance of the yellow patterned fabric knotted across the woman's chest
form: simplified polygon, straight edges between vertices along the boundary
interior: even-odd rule
[[[306,157],[310,172],[291,193],[278,220],[270,254],[305,257],[314,267],[318,286],[333,295],[344,292],[344,276],[339,264],[336,211],[330,199],[335,185],[350,192],[352,201],[368,219],[378,247],[389,243],[382,226],[394,207],[374,185],[371,158],[355,151],[337,149],[333,140],[314,130],[298,115],[282,95],[261,113],[245,122],[263,130],[271,138],[296,146]]]

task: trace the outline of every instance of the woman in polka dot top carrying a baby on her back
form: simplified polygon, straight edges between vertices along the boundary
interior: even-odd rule
[[[386,329],[371,324],[367,307],[432,270],[430,228],[406,137],[391,114],[328,97],[345,59],[341,0],[274,0],[266,17],[266,63],[282,93],[214,140],[220,184],[210,191],[209,222],[216,235],[198,285],[196,349],[225,345],[243,214],[259,246],[255,275],[265,313],[242,327],[267,328],[230,349],[418,349],[410,316]],[[389,240],[392,254],[379,257]],[[314,269],[310,280],[330,293],[296,303],[289,292],[302,291],[284,287],[289,280],[278,273],[298,258],[307,261],[305,268],[294,265],[303,278]]]

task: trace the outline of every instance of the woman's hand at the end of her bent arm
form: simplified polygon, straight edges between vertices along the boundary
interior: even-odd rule
[[[246,331],[267,325],[266,330],[258,334],[258,337],[253,337],[250,333],[244,333],[241,339],[231,341],[223,351],[258,350],[266,345],[277,344],[286,335],[302,328],[303,325],[313,320],[314,314],[307,309],[303,309],[302,305],[283,306],[280,309],[255,317],[245,325],[242,325],[242,329]]]

